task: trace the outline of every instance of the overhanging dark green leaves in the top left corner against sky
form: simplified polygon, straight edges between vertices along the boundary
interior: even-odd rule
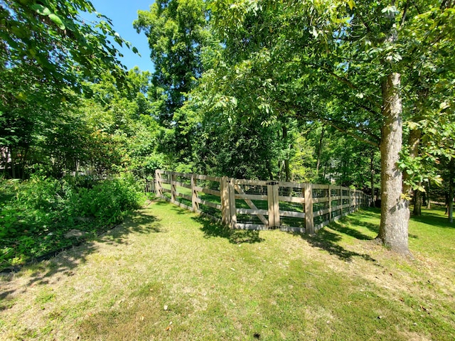
[[[0,31],[0,45],[6,48],[1,58],[8,59],[2,60],[4,65],[34,64],[35,71],[30,70],[36,75],[52,80],[57,88],[73,89],[80,88],[80,77],[122,66],[112,41],[129,43],[115,34],[109,19],[92,24],[79,16],[95,10],[88,0],[8,1],[7,9],[2,14],[9,24]]]

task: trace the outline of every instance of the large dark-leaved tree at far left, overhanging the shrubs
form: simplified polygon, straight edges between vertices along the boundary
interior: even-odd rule
[[[92,21],[82,18],[90,15]],[[4,171],[10,160],[10,174],[23,177],[26,161],[35,156],[36,161],[59,158],[53,162],[56,169],[75,163],[70,160],[81,149],[77,136],[84,129],[80,118],[71,114],[72,104],[79,100],[85,80],[95,80],[106,70],[115,80],[125,79],[117,44],[131,47],[90,1],[0,1]],[[47,149],[43,157],[37,155],[40,148]]]

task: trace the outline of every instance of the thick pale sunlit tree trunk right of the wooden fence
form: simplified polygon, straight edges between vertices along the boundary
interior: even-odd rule
[[[382,81],[381,129],[381,221],[378,239],[393,251],[408,249],[409,202],[402,196],[402,173],[397,167],[402,148],[402,103],[400,74],[393,72]]]

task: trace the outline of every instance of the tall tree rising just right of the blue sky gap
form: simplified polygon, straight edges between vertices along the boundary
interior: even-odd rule
[[[208,43],[208,12],[203,0],[158,0],[149,11],[138,11],[137,32],[149,40],[154,84],[166,95],[160,119],[170,125],[176,109],[203,72],[200,55]]]

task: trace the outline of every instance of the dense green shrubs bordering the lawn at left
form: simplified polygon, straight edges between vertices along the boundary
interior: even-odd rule
[[[0,270],[68,247],[70,229],[93,237],[139,207],[140,188],[131,175],[109,180],[33,176],[0,183]]]

